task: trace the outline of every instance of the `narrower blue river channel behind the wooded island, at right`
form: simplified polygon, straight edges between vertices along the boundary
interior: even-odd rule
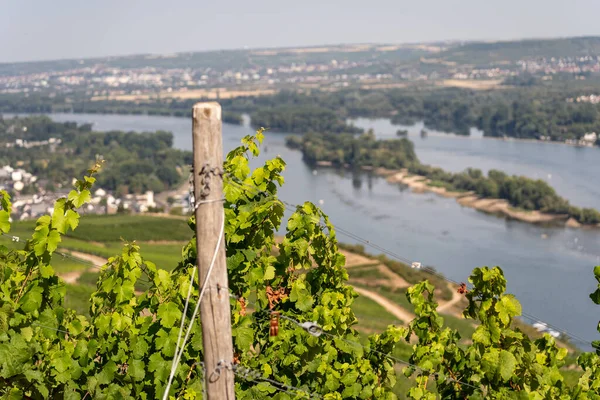
[[[600,209],[600,148],[573,147],[548,142],[496,140],[483,138],[471,130],[470,137],[448,135],[428,128],[420,137],[422,123],[392,125],[385,119],[357,119],[353,123],[372,128],[379,138],[396,137],[398,129],[408,130],[419,159],[446,170],[458,172],[476,167],[484,172],[498,169],[509,174],[543,179],[577,206]]]

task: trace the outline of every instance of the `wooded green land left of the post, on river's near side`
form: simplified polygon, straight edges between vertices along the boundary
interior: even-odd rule
[[[69,184],[95,159],[106,160],[97,184],[121,194],[160,192],[187,177],[192,153],[174,149],[170,132],[94,132],[89,124],[48,117],[2,119],[0,164],[36,175],[44,188]]]

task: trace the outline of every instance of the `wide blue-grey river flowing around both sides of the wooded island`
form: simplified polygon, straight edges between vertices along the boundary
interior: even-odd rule
[[[174,134],[174,144],[191,149],[191,121],[158,116],[54,114],[57,121],[92,122],[94,129],[154,131]],[[378,137],[399,129],[385,120],[355,120],[373,127]],[[419,158],[459,171],[466,167],[541,178],[573,204],[600,209],[600,149],[546,143],[454,137],[421,127],[410,128]],[[223,144],[230,150],[252,133],[248,126],[225,124]],[[544,228],[489,216],[461,207],[454,199],[433,193],[415,194],[367,173],[319,169],[302,162],[300,152],[285,147],[284,133],[267,132],[260,159],[281,155],[287,163],[282,199],[321,203],[334,225],[353,232],[410,260],[434,266],[465,281],[477,266],[499,265],[523,310],[591,341],[598,338],[600,307],[588,297],[596,287],[592,269],[600,264],[600,232]],[[339,235],[341,241],[353,240]],[[367,250],[369,250],[367,248]]]

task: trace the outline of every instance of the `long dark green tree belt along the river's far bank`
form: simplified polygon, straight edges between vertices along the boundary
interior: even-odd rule
[[[430,129],[468,135],[470,128],[485,136],[549,139],[580,139],[585,133],[600,132],[598,105],[567,102],[589,88],[561,86],[507,87],[495,91],[467,89],[344,89],[335,92],[305,93],[282,91],[269,96],[222,99],[224,120],[240,123],[249,113],[255,127],[288,132],[349,132],[347,118],[390,118],[410,125],[424,121]],[[83,95],[53,98],[35,94],[0,96],[0,111],[77,112],[189,116],[192,105],[201,99],[157,99],[141,102],[90,101]],[[319,128],[318,128],[319,127]],[[327,127],[327,130],[320,127]]]

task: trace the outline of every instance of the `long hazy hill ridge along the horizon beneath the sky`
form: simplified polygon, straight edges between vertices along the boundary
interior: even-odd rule
[[[527,39],[499,42],[440,42],[413,44],[347,44],[271,49],[217,50],[174,54],[138,54],[88,59],[0,63],[0,76],[64,71],[103,65],[116,68],[273,68],[279,65],[365,62],[371,65],[406,65],[423,58],[431,68],[472,64],[514,63],[539,57],[600,55],[600,36]],[[429,62],[427,62],[429,60]],[[422,65],[422,67],[423,67]],[[373,71],[371,71],[373,72]],[[379,72],[379,71],[375,71]]]

